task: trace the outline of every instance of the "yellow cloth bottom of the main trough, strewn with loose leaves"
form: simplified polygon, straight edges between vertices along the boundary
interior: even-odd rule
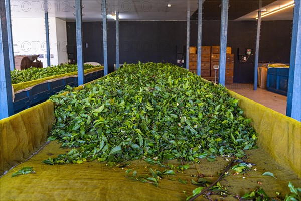
[[[191,179],[197,181],[197,178],[191,175],[204,174],[205,179],[213,182],[218,177],[217,172],[228,164],[221,157],[217,157],[215,162],[206,159],[200,160],[199,164],[190,162],[190,168],[183,173],[175,169],[175,176],[164,175],[159,179],[159,187],[156,188],[152,184],[125,178],[125,169],[117,166],[110,168],[105,162],[67,165],[46,165],[41,162],[67,151],[59,147],[60,143],[51,142],[39,154],[3,176],[0,179],[0,200],[186,200],[183,191],[191,195],[192,190],[198,187],[191,184]],[[285,196],[289,193],[289,181],[295,186],[300,186],[300,180],[295,174],[279,166],[263,149],[249,150],[246,153],[249,155],[249,161],[256,163],[256,166],[252,167],[246,178],[242,178],[241,174],[233,175],[234,170],[229,171],[229,176],[225,176],[221,184],[231,193],[243,195],[248,189],[260,186],[271,197],[276,196],[275,192],[281,192],[282,196]],[[168,162],[175,166],[180,165],[180,162],[175,160]],[[33,167],[36,174],[11,178],[15,171],[23,167]],[[165,170],[139,160],[130,161],[128,168],[137,170],[138,175],[150,175],[149,168],[161,172]],[[257,171],[254,171],[254,168]],[[262,176],[266,171],[272,172],[277,179]],[[180,183],[179,178],[186,180],[187,184]],[[213,196],[212,199],[222,200],[220,196]],[[201,196],[198,200],[207,199]],[[225,200],[237,199],[226,197]]]

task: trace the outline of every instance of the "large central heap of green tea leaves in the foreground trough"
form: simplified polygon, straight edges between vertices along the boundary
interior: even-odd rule
[[[172,64],[129,64],[81,91],[51,97],[56,122],[50,140],[68,153],[47,164],[195,160],[255,148],[251,122],[222,86]]]

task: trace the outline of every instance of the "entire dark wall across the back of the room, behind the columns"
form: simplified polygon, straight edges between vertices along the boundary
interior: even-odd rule
[[[191,46],[197,45],[197,21],[191,21]],[[259,62],[289,63],[292,21],[263,21]],[[255,51],[256,21],[229,21],[228,46],[235,54],[234,82],[252,83],[254,56],[243,63],[238,61],[238,48]],[[202,45],[219,45],[220,21],[203,21]],[[102,23],[83,23],[84,61],[103,63]],[[177,63],[177,47],[186,45],[186,22],[120,22],[120,63],[170,62]],[[75,23],[67,22],[68,45],[75,45]],[[88,47],[86,48],[86,43]],[[108,22],[108,65],[113,71],[115,58],[115,22]],[[185,65],[185,64],[183,64]]]

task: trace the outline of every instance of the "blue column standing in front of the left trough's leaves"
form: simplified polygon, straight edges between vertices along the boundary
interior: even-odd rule
[[[82,29],[82,0],[75,0],[75,21],[76,21],[76,47],[77,47],[77,75],[78,85],[85,83],[84,77],[84,56],[83,56],[83,29]]]

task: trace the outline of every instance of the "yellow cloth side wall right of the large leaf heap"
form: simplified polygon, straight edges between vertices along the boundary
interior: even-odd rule
[[[259,134],[257,145],[264,148],[280,165],[292,169],[301,177],[301,122],[278,113],[242,95],[228,90],[239,99],[243,115]]]

